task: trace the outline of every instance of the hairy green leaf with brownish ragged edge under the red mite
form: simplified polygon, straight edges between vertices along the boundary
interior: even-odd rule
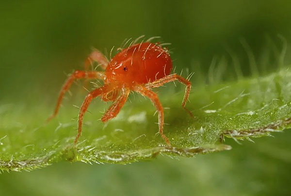
[[[224,137],[236,141],[270,135],[290,127],[291,71],[236,82],[194,86],[187,107],[181,107],[183,91],[167,87],[159,91],[165,107],[164,133],[158,132],[157,115],[149,100],[139,95],[122,108],[118,116],[102,124],[98,119],[105,105],[96,99],[86,113],[82,136],[76,146],[78,108],[64,102],[57,118],[45,123],[53,107],[41,99],[0,107],[0,171],[32,170],[54,162],[83,161],[129,163],[159,154],[193,157],[221,150]],[[53,96],[51,98],[54,98]],[[29,102],[29,101],[28,101]],[[74,104],[81,101],[74,101]],[[167,109],[170,108],[170,109]],[[168,125],[169,124],[169,125]]]

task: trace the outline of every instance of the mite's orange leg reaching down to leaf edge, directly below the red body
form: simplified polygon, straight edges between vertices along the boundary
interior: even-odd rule
[[[163,108],[162,105],[158,99],[158,96],[155,92],[147,89],[146,87],[143,86],[137,86],[135,88],[135,91],[141,93],[142,95],[146,96],[147,98],[149,98],[151,100],[151,102],[154,104],[154,106],[156,107],[158,113],[159,113],[159,132],[160,135],[162,136],[162,138],[164,139],[164,141],[170,146],[170,142],[168,140],[168,138],[163,134],[163,124],[164,124],[164,117],[163,117]]]

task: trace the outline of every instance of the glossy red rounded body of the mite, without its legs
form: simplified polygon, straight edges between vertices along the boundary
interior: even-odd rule
[[[153,43],[136,44],[117,53],[106,70],[108,83],[115,81],[129,88],[135,84],[146,84],[170,74],[170,55]]]

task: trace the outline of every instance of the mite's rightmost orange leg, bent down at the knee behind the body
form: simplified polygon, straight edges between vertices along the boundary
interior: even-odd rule
[[[146,84],[146,88],[151,89],[151,88],[161,87],[163,84],[168,83],[168,82],[172,82],[172,81],[175,81],[175,80],[178,80],[180,83],[182,83],[182,84],[184,84],[186,86],[184,99],[182,101],[182,107],[190,114],[190,116],[193,117],[193,114],[191,113],[191,111],[189,111],[186,108],[186,102],[188,100],[189,93],[190,93],[190,90],[191,90],[191,82],[186,80],[182,76],[177,75],[176,73],[171,74],[171,75],[167,75],[167,76],[165,76],[165,77],[163,77],[161,79],[158,79],[158,80],[156,80],[154,82],[150,82],[150,83]]]

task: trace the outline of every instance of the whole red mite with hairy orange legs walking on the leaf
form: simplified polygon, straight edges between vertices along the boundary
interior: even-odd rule
[[[107,102],[113,101],[101,121],[106,122],[114,118],[128,99],[130,90],[136,91],[151,100],[159,113],[159,132],[164,141],[170,145],[169,140],[163,134],[163,108],[157,94],[151,89],[160,87],[165,83],[178,80],[186,85],[186,91],[182,102],[182,107],[186,109],[186,101],[191,89],[191,83],[174,73],[172,70],[172,60],[170,55],[159,45],[145,42],[138,43],[123,49],[117,53],[109,62],[99,51],[93,51],[85,62],[85,69],[95,61],[101,64],[104,71],[75,71],[65,81],[63,85],[54,113],[48,120],[58,113],[61,101],[65,92],[69,89],[75,79],[99,79],[104,81],[104,85],[91,91],[83,101],[79,113],[78,134],[74,143],[76,144],[81,134],[81,127],[84,113],[86,112],[92,99],[100,96]],[[190,114],[191,112],[186,109]]]

